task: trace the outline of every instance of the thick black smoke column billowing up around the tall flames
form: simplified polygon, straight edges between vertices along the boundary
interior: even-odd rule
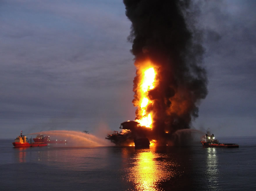
[[[161,137],[166,131],[190,128],[191,120],[198,117],[200,100],[207,95],[204,49],[200,32],[194,27],[191,2],[124,0],[124,4],[132,22],[128,40],[133,43],[131,52],[137,68],[134,106],[138,105],[140,68],[150,60],[158,81],[157,87],[148,91],[153,104],[147,112],[153,113],[154,134]]]

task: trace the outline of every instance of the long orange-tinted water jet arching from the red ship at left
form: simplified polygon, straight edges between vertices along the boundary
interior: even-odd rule
[[[68,143],[77,146],[112,146],[112,143],[105,139],[101,139],[92,134],[86,134],[79,131],[68,131],[68,130],[53,130],[53,131],[42,131],[30,133],[32,134],[45,134],[53,135],[57,137],[65,137],[71,140],[68,140]]]

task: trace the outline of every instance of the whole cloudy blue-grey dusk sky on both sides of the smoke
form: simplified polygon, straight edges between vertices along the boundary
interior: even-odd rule
[[[208,95],[191,128],[256,136],[256,2],[194,5]],[[134,120],[136,68],[122,1],[2,0],[0,26],[0,139],[20,130],[104,138]]]

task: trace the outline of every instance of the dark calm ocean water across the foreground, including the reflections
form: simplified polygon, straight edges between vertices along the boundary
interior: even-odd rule
[[[0,140],[0,190],[256,190],[256,137],[239,148],[13,148]]]

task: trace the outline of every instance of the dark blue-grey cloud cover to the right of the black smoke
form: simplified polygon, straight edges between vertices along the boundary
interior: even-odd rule
[[[239,135],[248,134],[253,127],[256,106],[253,6],[253,1],[205,1],[201,7],[200,27],[205,31],[209,94],[195,123],[212,128],[225,123],[221,131],[226,134],[232,126],[237,131],[243,129]],[[243,123],[243,127],[234,125],[234,121],[239,120],[237,124]]]

